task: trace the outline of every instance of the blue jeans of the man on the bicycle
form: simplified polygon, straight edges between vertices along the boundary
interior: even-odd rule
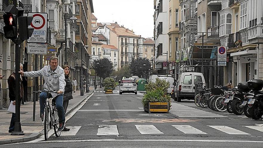
[[[48,98],[48,93],[41,92],[39,95],[40,113],[44,114],[46,99]],[[65,112],[63,108],[63,94],[59,94],[54,98],[56,100],[56,109],[59,115],[59,123],[65,122]]]

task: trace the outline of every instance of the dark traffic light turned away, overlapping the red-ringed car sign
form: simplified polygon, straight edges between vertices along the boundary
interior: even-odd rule
[[[33,20],[33,16],[21,16],[18,17],[18,32],[19,32],[19,38],[21,40],[29,39],[29,37],[33,34],[34,28],[28,27],[31,25],[31,22]]]

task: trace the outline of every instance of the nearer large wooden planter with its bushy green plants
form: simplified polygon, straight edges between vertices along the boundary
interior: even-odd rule
[[[167,94],[170,84],[166,80],[156,79],[155,83],[145,85],[146,94],[143,95],[142,104],[146,112],[169,112],[171,97]]]

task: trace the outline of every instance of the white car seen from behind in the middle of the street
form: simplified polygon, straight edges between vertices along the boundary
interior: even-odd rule
[[[134,93],[137,94],[137,84],[134,79],[123,79],[120,83],[120,91],[119,93]]]

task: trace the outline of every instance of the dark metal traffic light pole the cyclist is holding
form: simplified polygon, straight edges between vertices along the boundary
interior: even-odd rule
[[[15,113],[15,127],[14,132],[11,133],[11,135],[25,135],[24,132],[21,129],[21,123],[20,123],[20,48],[19,44],[15,44],[15,52],[16,52],[16,113]]]

